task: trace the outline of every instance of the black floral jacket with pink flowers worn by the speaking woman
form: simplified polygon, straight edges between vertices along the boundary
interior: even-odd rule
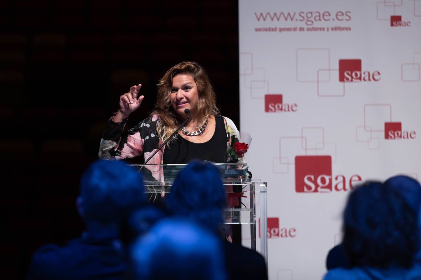
[[[159,117],[159,115],[155,114],[152,117],[142,120],[127,133],[123,133],[126,124],[125,121],[115,123],[110,119],[99,145],[99,158],[103,160],[121,160],[143,154],[144,160],[146,161],[162,144],[156,131],[157,124],[160,121]],[[240,132],[232,120],[226,117],[224,119],[227,132],[226,149],[228,151],[230,144],[234,144],[230,143],[231,137],[234,136],[235,142],[240,141]],[[163,163],[164,149],[165,146],[149,160],[148,164]],[[227,163],[228,160],[227,158]],[[156,167],[157,170],[152,170],[154,167],[149,166],[146,168],[151,170],[155,178],[159,177],[157,174],[159,167]]]

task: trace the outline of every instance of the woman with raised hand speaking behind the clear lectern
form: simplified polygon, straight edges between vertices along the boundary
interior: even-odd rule
[[[240,133],[232,120],[219,115],[215,93],[202,66],[188,61],[168,70],[157,87],[155,110],[149,118],[123,133],[128,116],[144,99],[143,95],[138,97],[140,89],[141,84],[132,86],[120,97],[120,109],[108,122],[101,139],[101,159],[143,154],[146,161],[169,140],[149,164],[187,163],[193,159],[233,162],[229,150],[240,141]],[[189,118],[186,109],[190,111]],[[181,131],[169,139],[186,120]]]

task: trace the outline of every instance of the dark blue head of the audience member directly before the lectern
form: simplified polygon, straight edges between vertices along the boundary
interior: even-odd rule
[[[226,192],[216,167],[192,162],[177,175],[165,204],[174,215],[190,217],[217,231],[226,207]]]

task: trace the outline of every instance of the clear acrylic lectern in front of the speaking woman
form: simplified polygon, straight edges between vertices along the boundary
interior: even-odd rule
[[[228,209],[224,214],[225,223],[241,224],[243,245],[259,251],[267,262],[267,183],[260,179],[247,178],[247,164],[212,164],[220,171],[227,193]],[[154,200],[171,193],[174,179],[186,165],[146,164],[132,166],[143,173],[145,192],[149,194],[150,200]],[[260,233],[256,231],[256,225],[259,221]],[[248,242],[249,239],[250,242]]]

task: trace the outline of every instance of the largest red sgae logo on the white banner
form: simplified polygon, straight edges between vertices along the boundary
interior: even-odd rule
[[[345,175],[333,177],[332,157],[330,156],[295,157],[295,191],[297,193],[348,191],[360,181],[362,181],[360,175],[352,175],[349,180]]]

